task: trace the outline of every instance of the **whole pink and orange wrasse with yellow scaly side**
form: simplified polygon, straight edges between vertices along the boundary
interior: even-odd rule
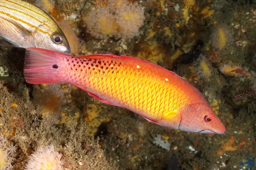
[[[127,108],[149,122],[194,133],[225,132],[204,96],[159,65],[128,56],[72,57],[27,48],[24,76],[31,84],[68,82],[99,101]]]

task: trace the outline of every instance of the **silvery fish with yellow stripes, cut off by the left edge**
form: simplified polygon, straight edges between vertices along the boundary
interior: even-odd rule
[[[70,53],[67,38],[52,17],[25,0],[0,0],[0,38],[0,45]]]

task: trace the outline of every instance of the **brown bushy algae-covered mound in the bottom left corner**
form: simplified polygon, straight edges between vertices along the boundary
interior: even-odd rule
[[[1,85],[3,85],[2,82],[0,82],[0,87]],[[54,159],[59,160],[58,165],[64,169],[84,170],[84,167],[91,167],[93,170],[117,169],[116,165],[105,158],[98,140],[86,135],[88,127],[84,122],[78,123],[70,119],[65,124],[54,124],[55,121],[52,119],[56,118],[51,114],[43,116],[44,106],[32,104],[28,97],[28,91],[25,93],[26,97],[20,99],[16,94],[10,94],[9,89],[3,86],[0,88],[0,94],[4,96],[4,99],[0,99],[0,108],[3,108],[5,115],[0,116],[0,156],[8,158],[0,160],[2,167],[14,166],[17,169],[23,169],[26,164],[27,169],[35,169],[34,165],[39,169],[56,169],[54,164],[58,162],[52,162],[53,158],[50,159],[49,156],[45,155],[52,153],[50,155],[55,155]],[[14,114],[12,113],[12,101],[19,103],[18,107],[15,108],[17,110],[15,115],[23,118],[19,124],[15,123],[15,133],[12,136],[6,136],[8,139],[12,139],[16,146],[13,146],[12,142],[9,142],[2,135],[3,132],[8,132],[9,129],[13,128],[9,124],[10,117]],[[53,146],[58,149],[58,153],[55,153]],[[36,151],[38,148],[41,149]],[[45,166],[38,167],[40,165],[34,164],[33,160],[45,160],[43,162]],[[47,161],[49,162],[47,163]]]

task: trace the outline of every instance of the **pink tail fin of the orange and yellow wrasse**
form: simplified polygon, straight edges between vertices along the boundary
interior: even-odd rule
[[[24,65],[26,82],[30,84],[63,82],[59,75],[58,63],[65,55],[41,48],[27,48]]]

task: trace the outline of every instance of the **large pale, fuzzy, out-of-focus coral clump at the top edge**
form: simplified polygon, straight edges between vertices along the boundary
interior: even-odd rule
[[[108,1],[109,6],[100,6],[84,17],[87,31],[98,38],[127,37],[139,34],[145,20],[144,10],[135,2]]]

